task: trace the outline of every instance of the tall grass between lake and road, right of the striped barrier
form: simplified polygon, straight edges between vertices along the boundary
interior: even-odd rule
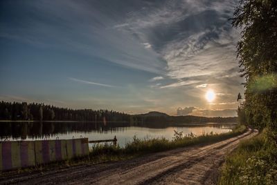
[[[224,139],[234,137],[244,133],[245,126],[236,126],[233,131],[229,133],[214,134],[209,133],[197,137],[190,133],[184,135],[175,131],[175,136],[172,140],[166,138],[152,138],[152,139],[139,139],[136,136],[133,137],[133,141],[126,144],[125,147],[113,146],[111,144],[96,144],[92,147],[90,157],[102,158],[102,159],[114,159],[124,156],[141,155],[145,153],[154,153],[164,150],[170,150],[174,148],[180,148],[185,146],[192,146],[195,144],[209,144],[213,142],[219,142]]]

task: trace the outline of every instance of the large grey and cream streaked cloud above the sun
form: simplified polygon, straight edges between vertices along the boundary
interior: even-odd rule
[[[234,6],[229,0],[148,3],[129,14],[126,30],[143,43],[151,43],[167,61],[168,77],[202,76],[199,80],[204,82],[207,76],[220,77],[222,72],[238,66],[238,32],[228,21]]]

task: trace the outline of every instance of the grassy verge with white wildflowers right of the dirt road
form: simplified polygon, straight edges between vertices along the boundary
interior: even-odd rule
[[[277,148],[267,143],[266,130],[226,158],[218,184],[277,184]]]

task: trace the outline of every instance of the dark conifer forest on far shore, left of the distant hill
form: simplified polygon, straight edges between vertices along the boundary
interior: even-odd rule
[[[1,120],[37,121],[129,121],[129,115],[114,110],[73,110],[26,102],[0,102]]]

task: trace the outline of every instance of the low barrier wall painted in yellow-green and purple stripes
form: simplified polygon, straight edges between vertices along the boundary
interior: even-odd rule
[[[61,139],[0,142],[0,171],[89,155],[89,141]]]

